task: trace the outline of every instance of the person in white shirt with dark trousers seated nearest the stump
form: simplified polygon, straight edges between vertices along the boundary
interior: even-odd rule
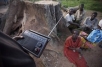
[[[77,28],[79,26],[79,24],[75,23],[75,17],[73,15],[73,9],[69,10],[69,13],[65,16],[65,20],[66,20],[66,27],[69,28],[70,31],[72,31],[73,29]]]

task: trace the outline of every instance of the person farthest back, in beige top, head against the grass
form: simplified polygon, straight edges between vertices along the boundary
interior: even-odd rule
[[[80,4],[79,9],[75,13],[76,22],[81,24],[84,17],[85,17],[84,4]]]

